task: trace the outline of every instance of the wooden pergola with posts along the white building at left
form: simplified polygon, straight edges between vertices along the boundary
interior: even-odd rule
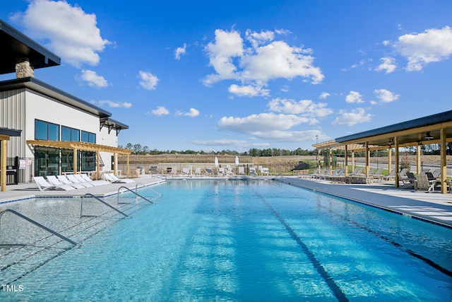
[[[100,171],[100,152],[114,153],[114,167],[116,174],[117,167],[117,154],[127,155],[127,175],[129,175],[129,155],[133,151],[130,149],[117,148],[112,146],[105,146],[100,144],[87,143],[85,141],[44,141],[44,140],[29,140],[28,145],[31,146],[43,146],[51,148],[70,149],[73,151],[73,173],[76,174],[77,170],[77,151],[92,151],[97,155],[97,171]]]

